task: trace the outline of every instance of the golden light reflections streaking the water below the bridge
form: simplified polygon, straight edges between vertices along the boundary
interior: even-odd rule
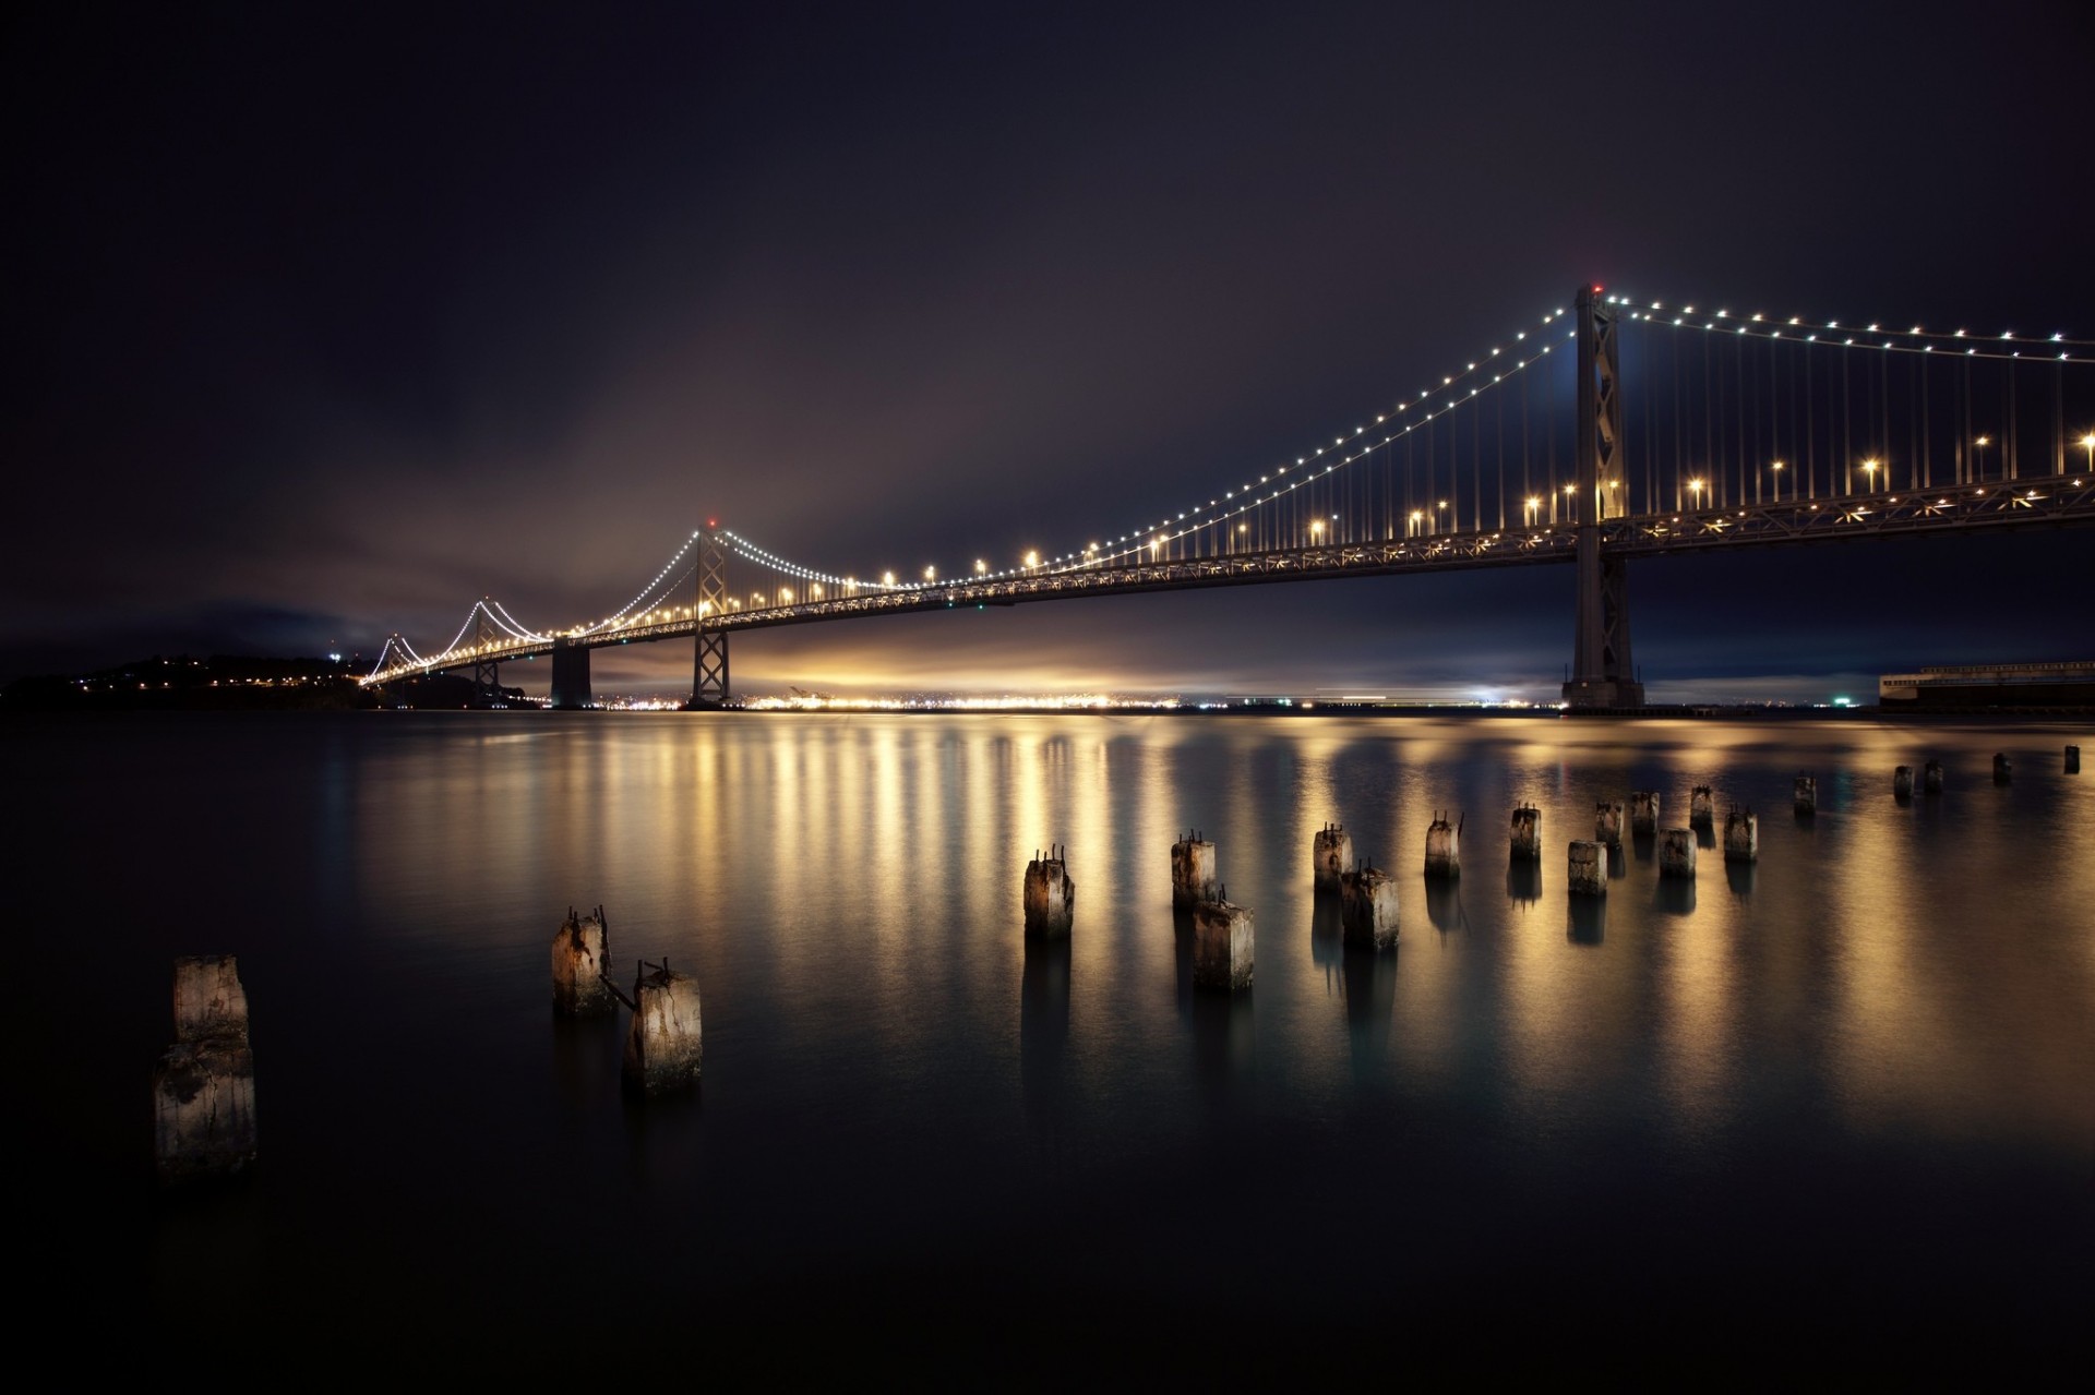
[[[2057,731],[520,721],[421,721],[367,762],[356,857],[390,888],[385,932],[528,945],[601,901],[616,964],[668,953],[702,974],[708,1062],[719,1024],[817,1081],[844,1058],[901,1091],[960,1070],[1014,1119],[999,1081],[1022,1066],[1031,1127],[1257,1083],[1286,1108],[1483,1091],[1542,1131],[1649,1108],[1682,1137],[1787,1091],[1856,1127],[2091,1142],[2095,867],[2061,829],[2087,825],[2095,781],[2057,771]],[[1992,785],[1990,752],[2017,741],[2017,781]],[[1950,792],[1896,804],[1892,767],[1929,754]],[[1789,815],[1798,769],[1821,779],[1808,821]],[[1592,834],[1594,800],[1659,790],[1678,827],[1697,783],[1718,823],[1760,813],[1758,867],[1705,844],[1672,886],[1632,842],[1605,907],[1569,899],[1563,848]],[[1542,811],[1534,880],[1506,863],[1519,802]],[[1441,888],[1423,876],[1435,811],[1467,819],[1462,878]],[[1399,878],[1393,959],[1337,949],[1309,888],[1326,821]],[[1221,844],[1257,915],[1257,987],[1221,1012],[1190,993],[1171,922],[1167,850],[1188,827]],[[1035,961],[1018,878],[1054,842],[1077,922]],[[461,899],[473,924],[444,913]]]

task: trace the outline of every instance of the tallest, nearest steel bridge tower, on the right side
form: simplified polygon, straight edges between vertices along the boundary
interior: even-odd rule
[[[1628,513],[1622,459],[1622,364],[1615,306],[1578,291],[1578,626],[1565,702],[1640,708],[1645,685],[1630,662],[1628,563],[1601,549],[1601,524]]]

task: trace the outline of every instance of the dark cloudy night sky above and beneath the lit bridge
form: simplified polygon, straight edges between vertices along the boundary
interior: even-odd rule
[[[6,23],[0,679],[432,645],[482,593],[572,624],[708,515],[836,572],[1062,551],[1586,279],[2095,335],[2078,0]],[[1818,698],[2095,658],[2091,551],[1642,563],[1638,660]],[[735,674],[1548,695],[1569,614],[1567,568],[1355,580],[777,630]],[[687,681],[599,654],[599,691]]]

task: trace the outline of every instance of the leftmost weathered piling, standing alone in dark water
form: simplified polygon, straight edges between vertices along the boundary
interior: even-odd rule
[[[174,1037],[153,1068],[159,1177],[230,1177],[256,1160],[256,1058],[233,955],[174,961]]]

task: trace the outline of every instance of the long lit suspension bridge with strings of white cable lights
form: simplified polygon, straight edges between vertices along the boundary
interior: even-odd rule
[[[587,706],[589,654],[693,645],[691,708],[729,704],[737,630],[941,607],[1504,566],[1575,568],[1580,708],[1642,706],[1636,557],[2095,524],[2095,339],[1936,331],[1580,287],[1437,385],[1299,455],[1060,553],[949,574],[788,559],[708,519],[608,616],[541,630],[473,601],[450,643],[388,637],[383,687],[553,660]],[[733,580],[731,580],[733,572]]]

